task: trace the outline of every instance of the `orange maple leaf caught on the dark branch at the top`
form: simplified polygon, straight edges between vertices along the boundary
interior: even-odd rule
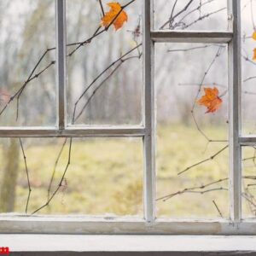
[[[109,26],[111,22],[113,22],[113,26],[117,31],[120,27],[122,27],[125,21],[128,20],[128,16],[125,11],[122,10],[122,7],[117,2],[107,3],[110,7],[110,10],[102,17],[102,26]]]

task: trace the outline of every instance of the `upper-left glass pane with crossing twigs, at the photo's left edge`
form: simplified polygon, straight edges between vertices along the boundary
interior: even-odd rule
[[[2,0],[0,13],[0,126],[55,125],[55,3]]]

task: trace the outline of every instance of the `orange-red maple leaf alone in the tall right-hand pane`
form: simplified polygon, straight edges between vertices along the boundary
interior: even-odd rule
[[[220,108],[222,99],[218,97],[218,89],[216,87],[213,89],[207,87],[204,90],[206,95],[201,96],[201,99],[196,102],[207,107],[206,113],[213,113]]]

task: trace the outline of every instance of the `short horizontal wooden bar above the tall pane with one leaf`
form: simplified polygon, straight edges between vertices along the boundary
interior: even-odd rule
[[[205,43],[227,44],[231,41],[232,32],[193,32],[193,31],[154,31],[151,38],[157,43]]]

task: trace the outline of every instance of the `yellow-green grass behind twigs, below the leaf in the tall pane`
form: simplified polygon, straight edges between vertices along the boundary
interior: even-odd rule
[[[207,137],[224,140],[227,137],[224,127],[205,126]],[[162,125],[158,132],[157,147],[157,196],[176,193],[179,190],[212,183],[228,177],[228,150],[213,160],[195,166],[182,175],[177,175],[189,166],[205,160],[217,153],[227,143],[207,143],[193,125]],[[227,182],[210,186],[207,189],[227,188]],[[200,190],[200,189],[196,189]],[[206,189],[202,189],[206,190]],[[205,194],[177,195],[168,201],[158,201],[158,215],[171,218],[212,218],[218,211],[216,201],[224,217],[228,216],[228,192],[216,190]]]

